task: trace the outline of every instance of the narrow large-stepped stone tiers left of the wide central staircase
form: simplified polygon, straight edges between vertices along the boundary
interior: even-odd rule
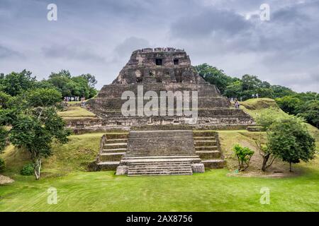
[[[126,153],[128,133],[106,133],[101,138],[97,170],[114,170]]]

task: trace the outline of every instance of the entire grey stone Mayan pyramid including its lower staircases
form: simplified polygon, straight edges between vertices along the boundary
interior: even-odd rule
[[[196,92],[197,106],[191,105],[193,96],[187,106],[197,112],[196,119],[190,120],[192,116],[184,111],[178,113],[185,105],[176,102],[174,114],[147,116],[133,109],[132,114],[123,115],[128,99],[122,95],[127,91],[136,106],[138,102],[147,105],[150,98],[143,95],[151,91],[152,100],[164,101],[164,107],[169,101],[161,92]],[[103,136],[96,170],[117,169],[116,174],[129,176],[193,174],[223,167],[218,133],[205,130],[253,124],[248,114],[230,107],[228,98],[198,75],[184,50],[174,48],[134,51],[113,83],[104,85],[88,106],[99,117],[100,128],[128,131]]]

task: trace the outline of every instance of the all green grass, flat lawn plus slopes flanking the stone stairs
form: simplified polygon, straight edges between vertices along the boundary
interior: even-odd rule
[[[249,102],[250,114],[268,106],[254,107],[260,103],[251,102],[256,100]],[[308,129],[318,144],[318,129],[310,125]],[[264,138],[265,133],[218,133],[228,169],[193,176],[118,177],[114,172],[86,172],[103,135],[86,133],[70,136],[65,145],[53,145],[54,155],[43,162],[42,178],[35,181],[33,176],[19,174],[29,162],[28,153],[9,146],[1,155],[7,165],[1,174],[15,182],[0,186],[0,211],[319,211],[318,155],[293,165],[296,173],[289,177],[238,177],[233,173],[236,159],[231,148],[240,143],[254,149],[253,139]],[[260,172],[259,167],[260,157],[255,153],[250,171]],[[275,162],[272,170],[288,172],[288,165]],[[57,205],[47,204],[50,187],[57,189]],[[269,205],[259,201],[263,187],[270,191]]]

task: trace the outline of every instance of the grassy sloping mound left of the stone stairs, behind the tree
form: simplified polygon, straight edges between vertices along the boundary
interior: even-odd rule
[[[86,133],[72,135],[69,143],[53,145],[53,155],[43,161],[42,177],[57,177],[69,172],[86,171],[90,162],[99,153],[99,144],[103,133]],[[3,174],[10,177],[19,176],[24,165],[30,162],[29,154],[10,145],[1,155],[6,161],[6,171]],[[33,178],[33,177],[32,177]]]

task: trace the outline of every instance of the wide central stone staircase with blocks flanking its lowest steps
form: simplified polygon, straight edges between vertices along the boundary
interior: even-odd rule
[[[203,172],[191,130],[130,131],[116,174],[191,175]]]

